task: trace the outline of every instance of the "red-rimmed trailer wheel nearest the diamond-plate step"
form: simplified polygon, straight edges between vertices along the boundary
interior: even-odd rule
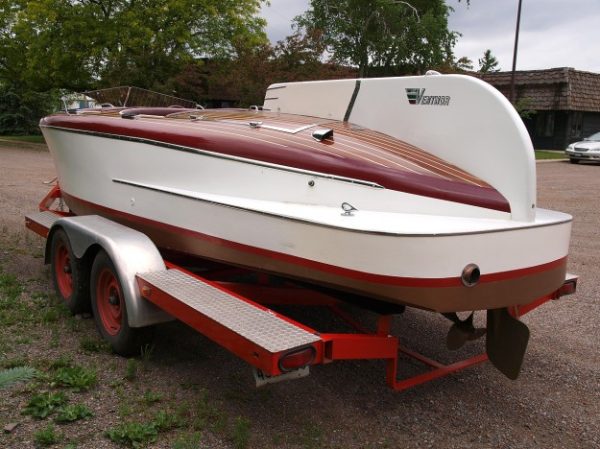
[[[132,328],[127,319],[127,305],[115,266],[104,250],[96,254],[91,272],[91,297],[98,332],[122,356],[139,355],[152,340],[153,327]]]

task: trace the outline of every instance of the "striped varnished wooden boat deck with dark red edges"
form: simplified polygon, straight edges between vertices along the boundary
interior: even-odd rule
[[[54,115],[43,124],[208,150],[510,212],[506,199],[485,181],[407,142],[351,123],[241,109],[175,109],[162,116],[169,111],[162,108],[156,116],[133,120],[118,111]],[[314,139],[315,127],[332,129],[333,138]]]

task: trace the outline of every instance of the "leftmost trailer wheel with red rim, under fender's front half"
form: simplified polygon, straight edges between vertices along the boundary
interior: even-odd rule
[[[82,264],[71,248],[67,233],[58,229],[50,242],[50,266],[56,294],[71,313],[90,311],[89,286]]]

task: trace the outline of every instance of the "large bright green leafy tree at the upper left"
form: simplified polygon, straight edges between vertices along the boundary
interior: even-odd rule
[[[10,0],[0,79],[45,91],[164,83],[199,56],[266,42],[265,0]]]

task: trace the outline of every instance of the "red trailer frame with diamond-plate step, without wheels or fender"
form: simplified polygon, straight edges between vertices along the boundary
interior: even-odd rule
[[[57,185],[41,201],[40,212],[26,217],[26,226],[48,238],[54,227],[61,226],[57,220],[72,217],[62,210],[61,198]],[[439,363],[404,347],[398,337],[390,334],[394,314],[379,314],[376,328],[369,330],[342,309],[339,299],[292,282],[272,285],[264,274],[235,267],[199,274],[168,261],[165,266],[164,270],[135,275],[140,296],[251,364],[256,369],[257,384],[302,377],[310,366],[337,360],[381,359],[386,361],[387,384],[403,391],[488,360],[483,353],[452,364]],[[249,274],[258,282],[232,280]],[[520,317],[548,301],[574,293],[576,286],[577,276],[567,275],[561,288],[530,304],[512,307],[510,313]],[[322,333],[275,312],[270,308],[274,305],[326,307],[355,332]],[[430,369],[398,379],[401,354]]]

